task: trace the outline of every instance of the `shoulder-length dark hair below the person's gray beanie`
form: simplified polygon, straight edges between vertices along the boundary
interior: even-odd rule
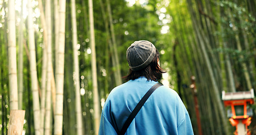
[[[154,59],[150,62],[148,66],[146,66],[145,69],[133,71],[130,68],[129,74],[123,77],[123,79],[128,81],[128,80],[137,79],[139,77],[145,77],[147,78],[147,80],[158,81],[159,79],[161,79],[162,74],[166,73],[166,71],[158,65],[158,59],[159,59],[159,52],[158,50],[156,50]]]

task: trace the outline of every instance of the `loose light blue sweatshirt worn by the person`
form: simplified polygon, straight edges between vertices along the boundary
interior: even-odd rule
[[[138,102],[156,83],[141,77],[115,87],[103,107],[98,134],[118,134]],[[177,92],[161,86],[145,102],[125,134],[194,133],[186,107]]]

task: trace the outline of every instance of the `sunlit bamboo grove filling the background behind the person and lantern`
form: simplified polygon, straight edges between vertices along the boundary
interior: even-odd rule
[[[24,134],[97,134],[127,48],[150,40],[194,133],[192,76],[203,134],[232,134],[221,92],[256,93],[255,19],[255,0],[0,0],[0,132],[20,109]]]

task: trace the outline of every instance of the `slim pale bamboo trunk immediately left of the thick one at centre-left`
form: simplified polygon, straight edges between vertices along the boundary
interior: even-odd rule
[[[51,23],[51,1],[46,1],[47,22],[47,83],[46,83],[46,114],[44,123],[44,134],[51,134],[51,82],[52,82],[52,23]]]

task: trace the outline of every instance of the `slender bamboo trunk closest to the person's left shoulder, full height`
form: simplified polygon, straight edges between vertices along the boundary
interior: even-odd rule
[[[95,32],[93,22],[93,3],[89,0],[89,24],[91,35],[91,50],[92,50],[92,85],[93,85],[93,108],[95,120],[95,134],[98,134],[100,126],[100,102],[98,99],[98,83],[97,83],[97,65],[96,65],[96,51],[95,51]]]

